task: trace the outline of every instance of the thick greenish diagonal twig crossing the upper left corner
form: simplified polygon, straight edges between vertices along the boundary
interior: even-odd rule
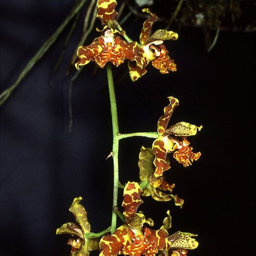
[[[19,83],[22,81],[22,79],[26,77],[26,75],[34,67],[36,62],[39,59],[41,59],[44,56],[44,54],[50,49],[52,44],[57,40],[57,38],[62,33],[62,31],[66,28],[68,23],[73,19],[73,17],[84,6],[86,1],[87,0],[81,0],[81,2],[79,2],[78,5],[77,5],[77,3],[75,4],[75,5],[77,5],[76,8],[73,8],[73,11],[71,11],[71,13],[68,15],[68,17],[62,22],[62,24],[53,33],[53,35],[49,39],[47,39],[47,41],[38,50],[38,52],[34,55],[34,57],[27,63],[26,67],[21,71],[21,73],[20,73],[18,79],[15,81],[15,83],[0,94],[0,106],[3,105],[3,103],[10,97],[11,93],[19,85]]]

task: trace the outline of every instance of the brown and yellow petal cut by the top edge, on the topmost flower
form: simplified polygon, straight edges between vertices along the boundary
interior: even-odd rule
[[[115,11],[116,0],[98,0],[97,2],[97,18],[100,19],[102,25],[108,25],[109,21],[114,21],[117,15]]]

